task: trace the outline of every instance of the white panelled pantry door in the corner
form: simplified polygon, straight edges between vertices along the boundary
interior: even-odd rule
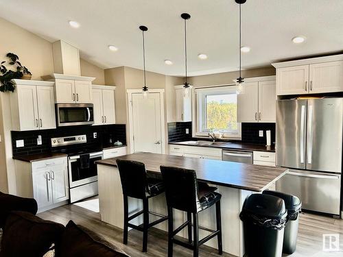
[[[132,120],[134,152],[162,154],[160,94],[132,94]]]

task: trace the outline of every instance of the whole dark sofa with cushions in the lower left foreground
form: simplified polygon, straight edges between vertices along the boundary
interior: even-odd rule
[[[0,257],[127,257],[102,236],[76,225],[64,227],[36,216],[36,200],[0,192]],[[46,255],[45,255],[46,254]]]

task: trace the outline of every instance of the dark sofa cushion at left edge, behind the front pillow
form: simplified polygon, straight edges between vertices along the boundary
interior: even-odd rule
[[[8,212],[12,210],[21,210],[30,212],[33,215],[37,213],[37,202],[33,198],[18,197],[0,192],[0,228],[5,226],[5,220]]]

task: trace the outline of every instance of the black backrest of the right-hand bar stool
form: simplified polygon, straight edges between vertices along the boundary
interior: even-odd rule
[[[161,166],[167,206],[185,212],[197,212],[198,182],[196,171]]]

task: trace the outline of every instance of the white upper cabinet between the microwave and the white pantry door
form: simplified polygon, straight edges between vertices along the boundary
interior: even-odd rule
[[[115,86],[93,85],[94,125],[115,124]]]

